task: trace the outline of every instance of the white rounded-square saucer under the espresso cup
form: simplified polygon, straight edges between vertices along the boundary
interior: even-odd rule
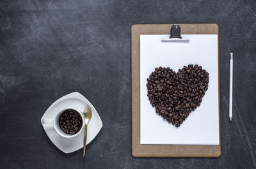
[[[54,114],[60,111],[63,107],[74,107],[83,112],[86,105],[89,105],[92,109],[92,119],[89,121],[87,127],[86,145],[88,145],[88,143],[92,142],[93,138],[97,136],[102,128],[102,121],[90,101],[84,98],[84,96],[79,92],[67,94],[66,96],[63,96],[52,103],[52,105],[44,113],[41,123],[43,119],[53,119]],[[54,143],[54,145],[56,145],[56,147],[58,147],[61,151],[70,153],[83,148],[84,129],[81,131],[81,133],[79,133],[79,135],[74,136],[73,138],[64,138],[55,131],[53,125],[42,123],[42,126],[52,143]]]

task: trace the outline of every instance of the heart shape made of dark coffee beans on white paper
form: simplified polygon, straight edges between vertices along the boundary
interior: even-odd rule
[[[200,106],[208,89],[209,73],[202,66],[189,64],[177,73],[156,68],[147,78],[148,99],[156,113],[179,127],[189,113]]]

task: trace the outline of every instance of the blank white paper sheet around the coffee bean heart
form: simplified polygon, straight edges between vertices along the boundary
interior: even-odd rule
[[[218,145],[218,36],[184,35],[189,43],[163,43],[163,37],[168,35],[140,36],[140,143]],[[159,66],[177,72],[188,64],[198,64],[209,72],[209,87],[200,107],[176,128],[156,114],[150,105],[147,78]]]

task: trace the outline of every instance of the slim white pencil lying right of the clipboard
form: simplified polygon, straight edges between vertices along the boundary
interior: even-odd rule
[[[232,121],[232,92],[233,92],[233,53],[230,53],[229,72],[229,120]]]

